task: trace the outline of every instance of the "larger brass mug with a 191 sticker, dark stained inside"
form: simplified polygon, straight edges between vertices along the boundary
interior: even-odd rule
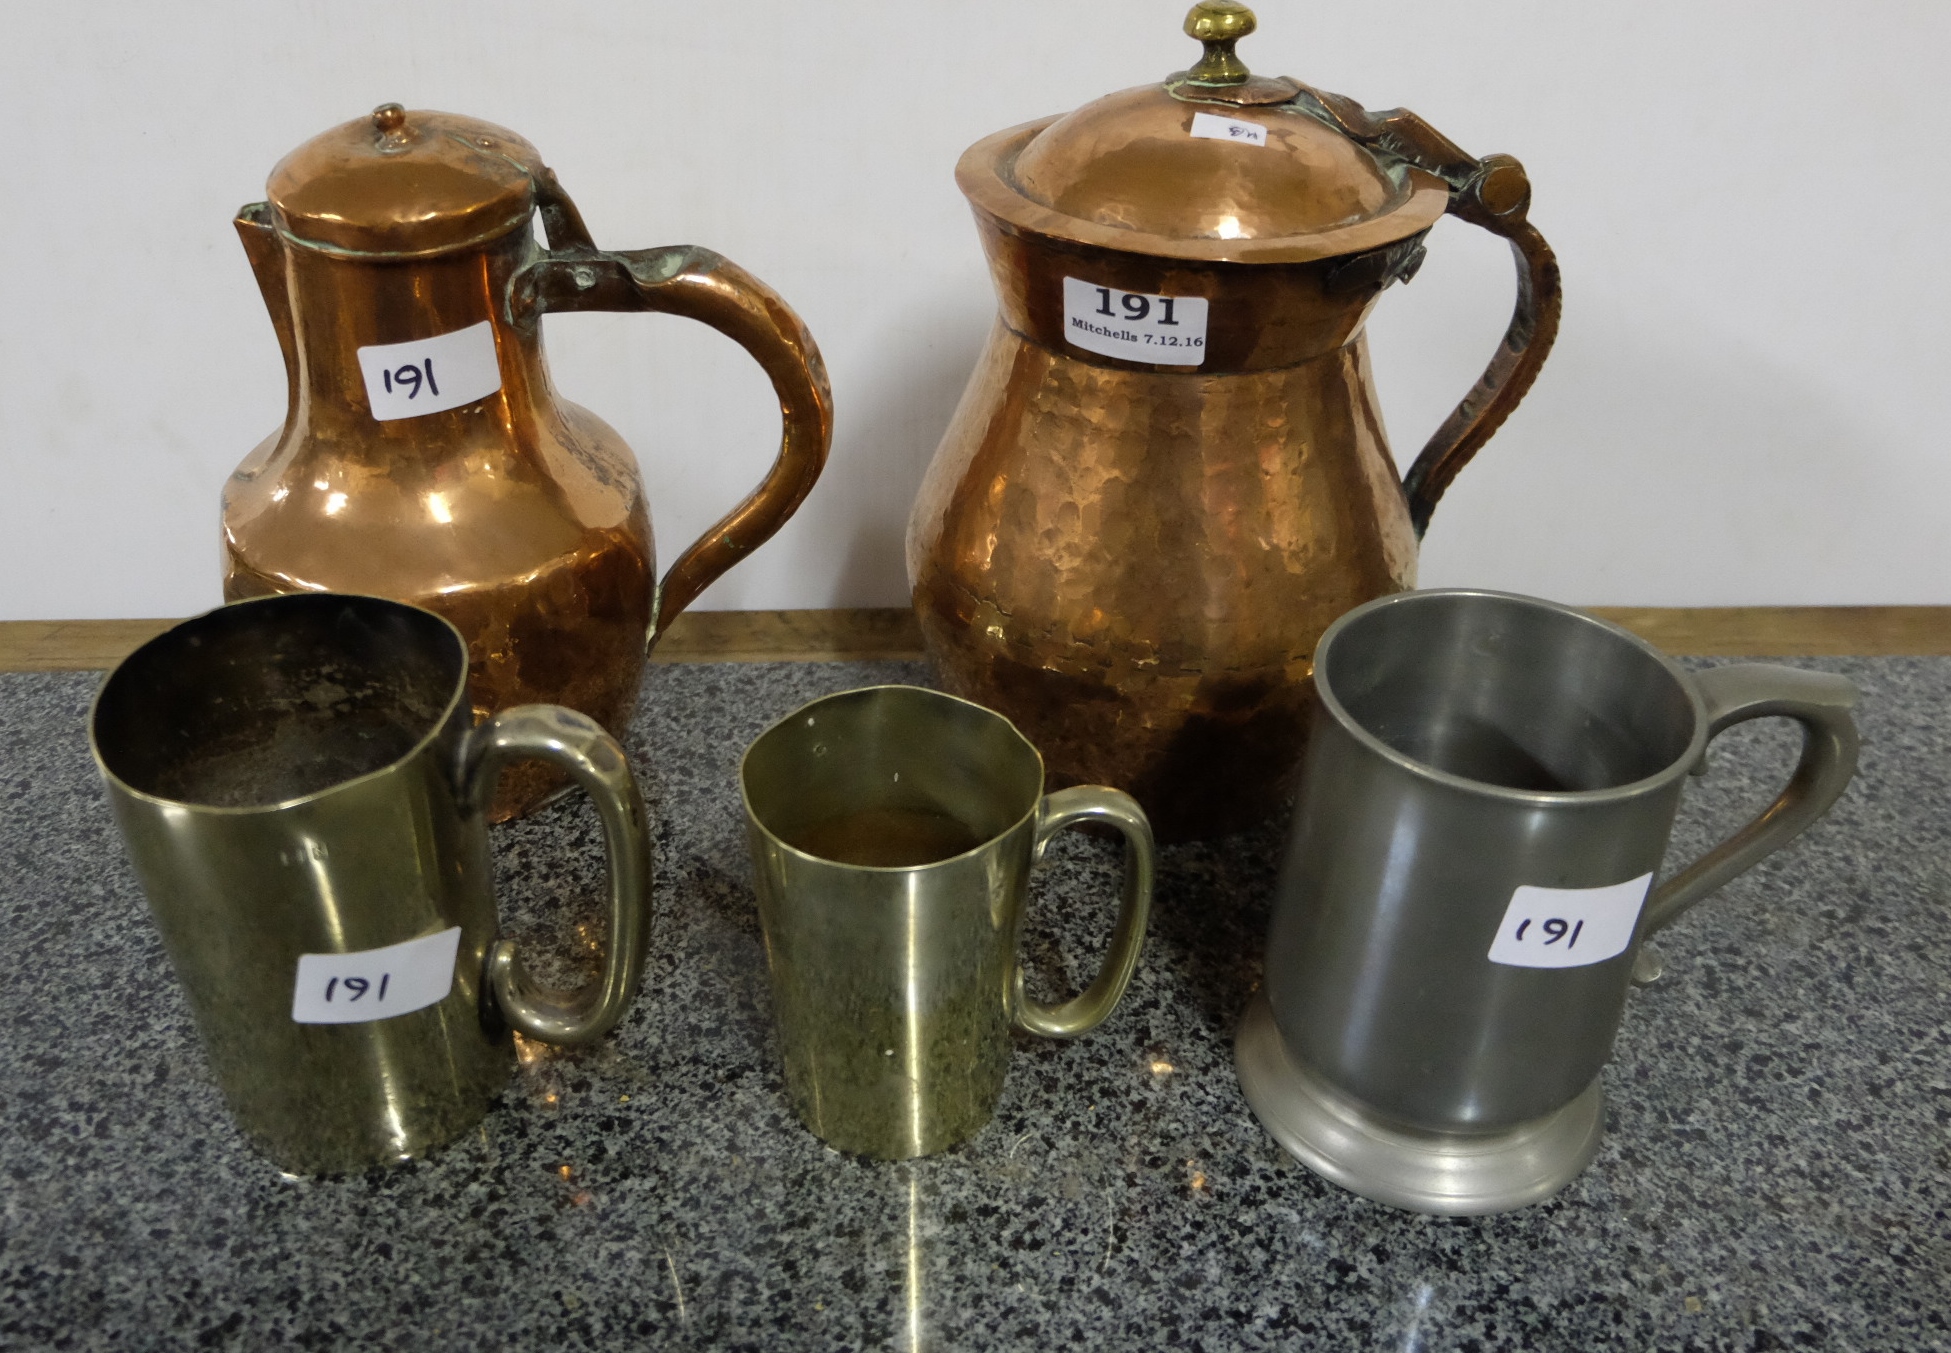
[[[88,734],[211,1070],[289,1171],[453,1140],[507,1084],[509,1027],[587,1043],[636,996],[650,838],[622,750],[556,705],[476,726],[466,642],[431,611],[226,605],[123,660]],[[579,992],[538,988],[496,939],[484,814],[521,758],[603,818],[611,937]]]

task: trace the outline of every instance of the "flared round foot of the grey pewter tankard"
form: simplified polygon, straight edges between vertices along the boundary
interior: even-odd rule
[[[1274,1007],[1254,996],[1233,1043],[1254,1117],[1280,1146],[1350,1193],[1436,1216],[1543,1203],[1592,1164],[1606,1125],[1594,1080],[1563,1109],[1502,1132],[1422,1132],[1389,1123],[1295,1062]]]

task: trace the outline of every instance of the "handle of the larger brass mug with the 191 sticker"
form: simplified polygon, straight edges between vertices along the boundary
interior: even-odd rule
[[[603,974],[579,992],[535,982],[498,939],[488,951],[488,984],[501,1015],[519,1033],[544,1043],[579,1045],[609,1033],[644,980],[650,947],[650,832],[644,797],[622,748],[587,715],[560,705],[515,705],[468,730],[455,763],[460,812],[482,816],[494,802],[496,777],[509,761],[548,761],[583,787],[603,818],[609,851],[609,951]]]

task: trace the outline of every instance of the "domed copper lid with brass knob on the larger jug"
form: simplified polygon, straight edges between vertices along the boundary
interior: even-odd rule
[[[1309,262],[1434,225],[1448,185],[1313,115],[1301,82],[1249,72],[1233,45],[1254,25],[1239,0],[1202,0],[1190,70],[987,137],[956,182],[1009,225],[1196,262]]]

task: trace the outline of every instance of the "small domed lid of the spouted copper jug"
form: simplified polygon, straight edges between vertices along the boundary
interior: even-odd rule
[[[414,258],[523,225],[540,166],[505,127],[380,103],[279,160],[265,197],[297,244]]]

